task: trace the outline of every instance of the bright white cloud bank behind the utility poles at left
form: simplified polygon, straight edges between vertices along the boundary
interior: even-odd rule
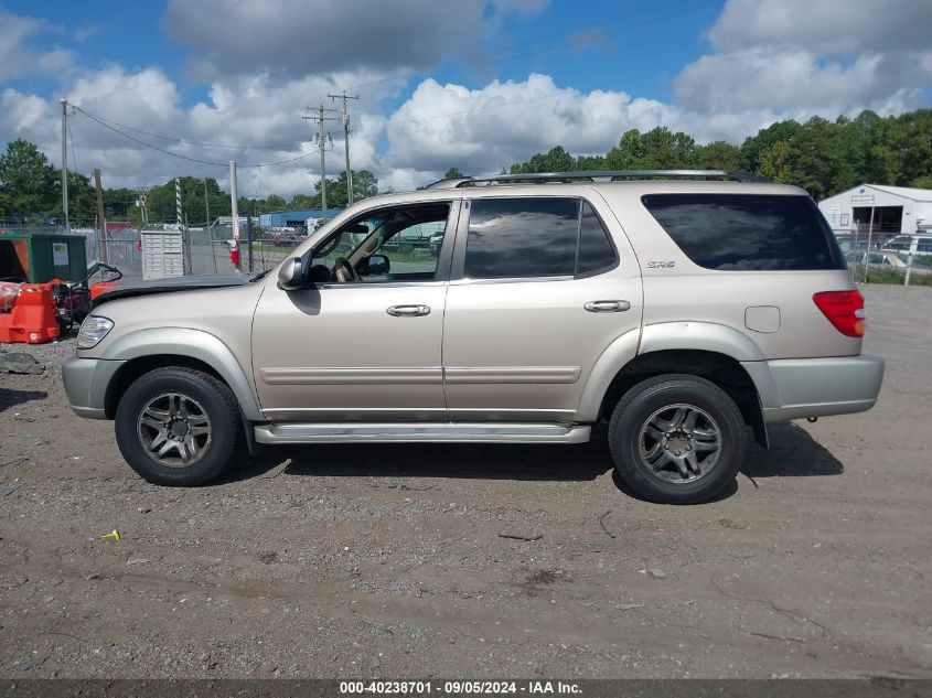
[[[308,76],[280,82],[269,76],[253,76],[212,84],[208,99],[183,106],[179,86],[161,69],[149,67],[126,71],[110,65],[85,71],[66,93],[69,104],[109,120],[107,128],[81,111],[71,117],[74,158],[79,171],[94,168],[104,172],[106,186],[140,186],[160,183],[181,174],[226,176],[226,163],[240,165],[244,193],[255,194],[258,182],[261,194],[276,192],[290,195],[313,192],[319,178],[320,160],[312,142],[314,128],[302,120],[308,112],[308,96],[323,97],[335,84],[382,79],[384,75],[341,73],[328,77]],[[352,162],[355,169],[376,169],[376,144],[383,136],[386,119],[377,114],[387,90],[397,86],[390,80],[379,92],[351,103]],[[329,104],[328,106],[332,106]],[[55,98],[8,88],[0,94],[0,140],[26,138],[58,164],[61,160],[61,110]],[[124,135],[113,129],[121,131]],[[328,171],[333,176],[343,169],[342,126],[328,125],[333,149],[328,152]],[[180,138],[189,143],[160,139],[153,135]],[[147,148],[126,136],[196,160],[222,167],[199,164]],[[194,143],[227,146],[203,147]],[[240,149],[232,146],[269,146]],[[280,162],[311,153],[300,160],[275,168],[248,168],[249,164]],[[73,168],[71,149],[68,167]],[[246,189],[248,186],[248,189]]]

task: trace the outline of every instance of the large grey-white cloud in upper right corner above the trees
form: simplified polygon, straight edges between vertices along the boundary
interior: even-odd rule
[[[677,76],[677,104],[829,118],[915,108],[932,84],[930,24],[929,0],[729,0],[708,32],[716,53]]]

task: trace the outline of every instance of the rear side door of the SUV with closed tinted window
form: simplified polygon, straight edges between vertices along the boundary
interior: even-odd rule
[[[464,200],[443,321],[450,419],[572,421],[596,359],[640,330],[628,239],[594,191],[575,189]]]

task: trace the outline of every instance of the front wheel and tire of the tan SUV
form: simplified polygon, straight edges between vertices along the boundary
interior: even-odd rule
[[[242,452],[239,407],[224,383],[193,368],[157,368],[126,390],[115,420],[120,453],[156,485],[196,486]]]

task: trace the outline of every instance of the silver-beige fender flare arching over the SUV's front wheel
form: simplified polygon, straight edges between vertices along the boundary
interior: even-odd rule
[[[243,416],[250,421],[264,421],[248,373],[226,344],[202,330],[158,327],[130,332],[109,345],[100,358],[132,361],[158,354],[188,356],[208,364],[233,390]]]

